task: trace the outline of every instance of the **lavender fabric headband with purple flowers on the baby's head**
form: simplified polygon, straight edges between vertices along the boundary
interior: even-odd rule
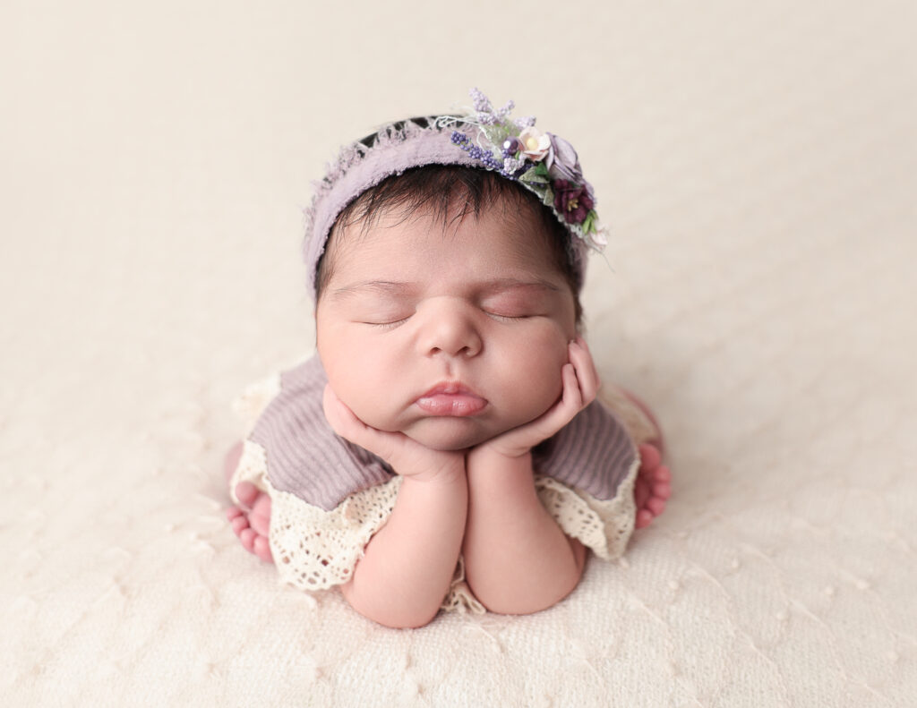
[[[315,296],[315,270],[340,212],[370,187],[393,174],[424,165],[464,165],[495,171],[538,196],[570,235],[569,254],[577,282],[585,252],[607,244],[595,213],[595,195],[573,146],[535,127],[535,117],[510,119],[512,101],[498,110],[477,89],[474,110],[462,116],[414,118],[382,127],[370,138],[341,149],[325,178],[315,183],[305,211],[303,255]]]

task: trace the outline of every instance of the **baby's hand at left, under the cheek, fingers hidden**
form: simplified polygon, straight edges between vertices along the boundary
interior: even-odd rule
[[[418,481],[433,481],[441,476],[453,476],[465,470],[463,452],[443,452],[426,448],[403,433],[390,433],[366,425],[337,397],[326,384],[322,400],[325,417],[331,428],[360,448],[388,462],[403,477]]]

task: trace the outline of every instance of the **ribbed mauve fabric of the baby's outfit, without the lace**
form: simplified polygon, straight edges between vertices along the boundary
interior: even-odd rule
[[[322,410],[327,377],[315,355],[282,371],[281,392],[264,409],[249,440],[265,449],[268,478],[326,511],[350,494],[392,479],[392,468],[339,437]],[[597,499],[611,499],[636,459],[634,441],[598,401],[532,452],[536,471]]]

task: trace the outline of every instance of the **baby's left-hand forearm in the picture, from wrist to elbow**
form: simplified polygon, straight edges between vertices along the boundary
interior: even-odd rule
[[[354,609],[392,627],[427,624],[448,592],[468,510],[461,461],[436,480],[405,477],[389,520],[341,590]]]

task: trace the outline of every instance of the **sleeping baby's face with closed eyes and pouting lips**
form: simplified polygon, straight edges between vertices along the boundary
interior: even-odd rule
[[[445,232],[421,212],[351,228],[329,254],[316,333],[331,387],[364,423],[458,450],[558,400],[574,296],[534,216],[498,205]]]

